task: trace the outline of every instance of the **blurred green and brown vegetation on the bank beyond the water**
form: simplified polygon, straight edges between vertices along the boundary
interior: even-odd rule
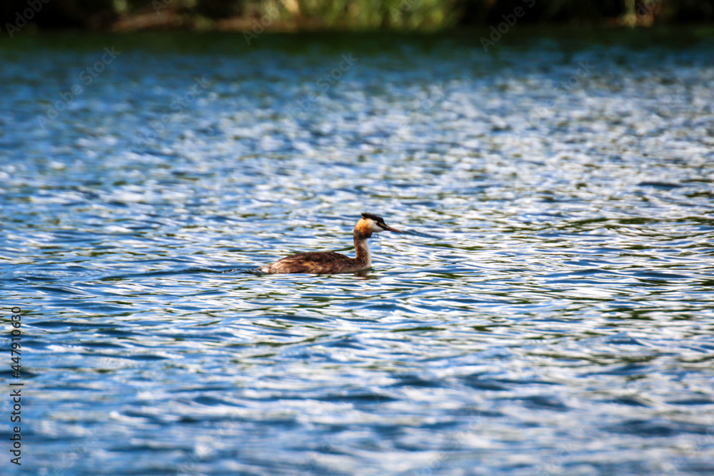
[[[714,0],[3,0],[5,34],[49,28],[437,30],[519,21],[650,26],[712,21]]]

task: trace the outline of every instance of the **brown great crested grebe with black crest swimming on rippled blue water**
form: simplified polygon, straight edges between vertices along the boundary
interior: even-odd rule
[[[266,274],[337,274],[368,270],[372,267],[372,256],[369,254],[367,238],[372,236],[372,233],[379,233],[380,231],[402,233],[396,228],[386,226],[384,218],[381,216],[362,213],[362,218],[359,219],[352,233],[355,240],[356,258],[331,252],[299,253],[277,260],[275,263],[261,266],[258,271]]]

